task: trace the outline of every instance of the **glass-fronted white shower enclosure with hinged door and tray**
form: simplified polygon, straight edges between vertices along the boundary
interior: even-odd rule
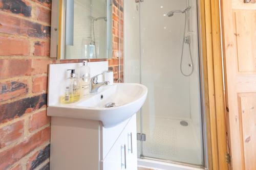
[[[124,1],[124,82],[148,88],[137,114],[139,164],[207,166],[198,37],[196,0]]]

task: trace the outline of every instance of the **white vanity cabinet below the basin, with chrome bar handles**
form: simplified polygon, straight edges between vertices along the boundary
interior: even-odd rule
[[[51,170],[137,169],[136,114],[104,128],[101,122],[52,117]]]

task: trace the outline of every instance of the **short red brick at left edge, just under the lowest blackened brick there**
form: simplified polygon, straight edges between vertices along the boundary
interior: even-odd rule
[[[19,120],[0,129],[0,148],[4,148],[24,133],[24,120]]]

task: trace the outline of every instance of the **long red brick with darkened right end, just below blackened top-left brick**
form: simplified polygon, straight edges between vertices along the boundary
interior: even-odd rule
[[[40,25],[26,19],[20,19],[0,13],[0,32],[37,38],[50,38],[50,26]]]

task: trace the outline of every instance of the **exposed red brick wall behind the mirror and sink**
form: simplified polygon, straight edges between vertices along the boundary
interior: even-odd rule
[[[123,0],[113,1],[116,80]],[[50,23],[51,0],[0,0],[0,170],[49,169],[48,65],[81,61],[50,58]]]

